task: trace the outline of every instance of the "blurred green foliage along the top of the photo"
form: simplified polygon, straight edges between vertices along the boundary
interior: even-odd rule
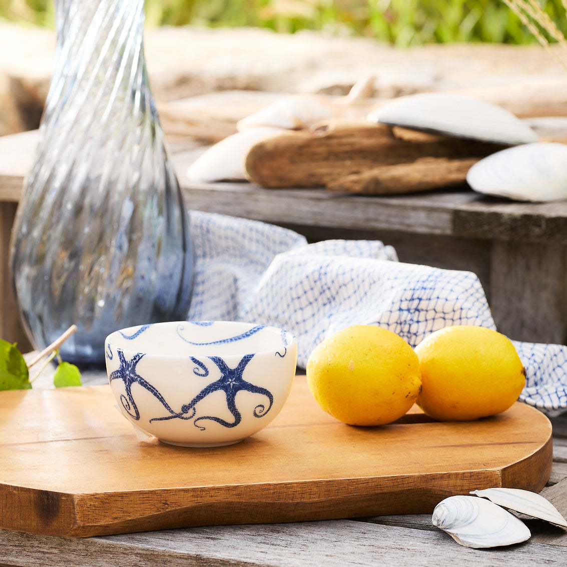
[[[96,1],[96,0],[90,0]],[[539,0],[567,33],[561,0]],[[53,26],[53,0],[0,0],[0,19]],[[392,45],[535,39],[501,0],[146,0],[149,26],[255,26],[375,37]]]

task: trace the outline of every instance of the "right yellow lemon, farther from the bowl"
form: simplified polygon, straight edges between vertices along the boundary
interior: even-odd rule
[[[437,420],[476,420],[506,411],[526,383],[510,339],[485,327],[445,327],[415,352],[422,376],[417,405]]]

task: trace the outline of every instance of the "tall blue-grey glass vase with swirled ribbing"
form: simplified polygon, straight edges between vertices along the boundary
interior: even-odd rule
[[[104,364],[116,329],[184,320],[188,215],[146,73],[143,0],[56,0],[54,71],[16,214],[11,271],[37,349]]]

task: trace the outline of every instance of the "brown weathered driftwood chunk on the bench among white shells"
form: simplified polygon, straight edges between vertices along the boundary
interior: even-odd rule
[[[494,143],[411,135],[366,122],[329,122],[257,143],[246,174],[262,187],[327,187],[369,194],[409,193],[463,183]]]

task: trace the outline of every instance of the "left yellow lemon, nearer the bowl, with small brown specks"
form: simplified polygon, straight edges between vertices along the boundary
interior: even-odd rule
[[[355,325],[321,342],[306,373],[320,407],[350,425],[397,420],[412,407],[421,386],[411,346],[374,325]]]

